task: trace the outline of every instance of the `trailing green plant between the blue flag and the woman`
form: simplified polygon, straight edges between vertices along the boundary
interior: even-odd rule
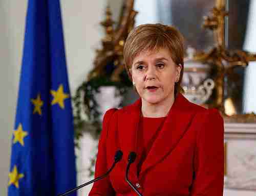
[[[90,133],[94,139],[98,139],[101,133],[102,122],[100,119],[101,111],[99,104],[95,99],[95,94],[100,92],[102,86],[115,86],[116,96],[122,96],[126,93],[130,83],[111,81],[108,77],[96,77],[83,82],[76,90],[73,97],[74,108],[74,129],[75,146],[79,149],[79,139],[84,133]],[[122,102],[119,107],[122,107]],[[89,168],[90,176],[94,174],[93,166],[95,157],[91,159]]]

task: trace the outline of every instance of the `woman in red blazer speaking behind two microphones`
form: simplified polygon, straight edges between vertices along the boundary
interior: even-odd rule
[[[124,62],[140,99],[105,113],[95,176],[111,167],[117,150],[123,158],[89,195],[136,195],[125,181],[132,151],[129,178],[143,195],[223,195],[223,119],[180,93],[183,54],[173,27],[143,24],[129,34]]]

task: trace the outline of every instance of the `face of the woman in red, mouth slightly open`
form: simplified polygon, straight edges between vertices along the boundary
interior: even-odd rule
[[[174,99],[174,86],[180,71],[181,65],[176,65],[164,48],[137,55],[130,69],[142,103],[150,105],[164,104]]]

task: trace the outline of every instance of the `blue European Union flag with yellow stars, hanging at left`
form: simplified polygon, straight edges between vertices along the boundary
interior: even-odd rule
[[[8,195],[57,195],[75,186],[74,127],[59,0],[29,0]]]

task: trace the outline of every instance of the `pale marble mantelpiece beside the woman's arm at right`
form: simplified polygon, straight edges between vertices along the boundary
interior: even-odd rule
[[[256,195],[256,124],[226,123],[225,143],[224,187]]]

